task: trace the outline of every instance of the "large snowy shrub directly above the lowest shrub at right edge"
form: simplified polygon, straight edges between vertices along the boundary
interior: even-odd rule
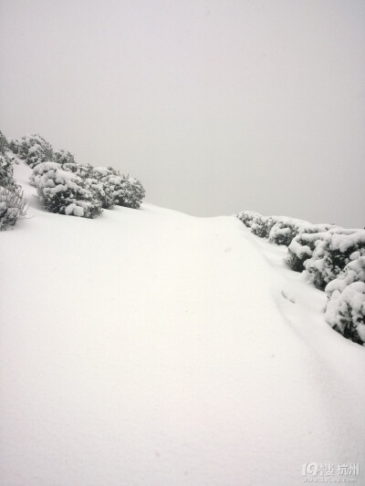
[[[308,280],[318,288],[337,278],[349,262],[365,255],[365,230],[336,228],[318,233],[311,256],[304,262]]]

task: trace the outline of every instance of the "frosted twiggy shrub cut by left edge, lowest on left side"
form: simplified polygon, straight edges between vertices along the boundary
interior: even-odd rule
[[[23,191],[16,187],[13,190],[0,187],[0,231],[7,226],[14,226],[26,215],[26,200]]]

